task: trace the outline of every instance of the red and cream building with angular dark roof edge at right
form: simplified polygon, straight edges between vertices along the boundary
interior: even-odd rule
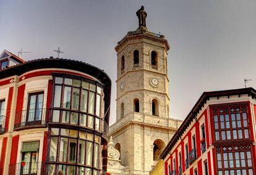
[[[256,172],[256,91],[204,92],[161,153],[164,174]]]

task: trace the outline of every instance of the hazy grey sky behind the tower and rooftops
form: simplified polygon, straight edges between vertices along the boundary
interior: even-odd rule
[[[82,60],[112,80],[110,124],[116,121],[116,51],[138,28],[135,12],[147,12],[147,28],[168,39],[171,118],[184,120],[204,91],[256,88],[255,0],[0,0],[0,52],[29,51],[23,59]]]

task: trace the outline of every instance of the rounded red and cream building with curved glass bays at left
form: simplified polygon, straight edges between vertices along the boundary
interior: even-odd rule
[[[110,94],[108,75],[87,63],[51,57],[3,67],[0,174],[104,173]]]

